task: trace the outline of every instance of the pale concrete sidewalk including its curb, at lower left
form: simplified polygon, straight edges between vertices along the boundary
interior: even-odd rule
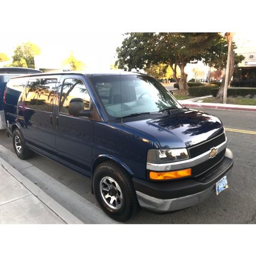
[[[0,157],[0,224],[83,224]]]

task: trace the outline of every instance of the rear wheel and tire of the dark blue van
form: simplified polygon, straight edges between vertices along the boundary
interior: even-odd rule
[[[19,143],[17,143],[18,140]],[[33,152],[26,146],[22,132],[17,128],[13,131],[13,147],[17,156],[22,160],[28,159],[33,154]]]

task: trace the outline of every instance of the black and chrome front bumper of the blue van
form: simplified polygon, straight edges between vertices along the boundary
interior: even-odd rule
[[[151,182],[133,178],[133,184],[142,208],[154,212],[170,212],[197,205],[215,191],[215,184],[223,176],[230,176],[233,154],[225,151],[224,159],[196,179]]]

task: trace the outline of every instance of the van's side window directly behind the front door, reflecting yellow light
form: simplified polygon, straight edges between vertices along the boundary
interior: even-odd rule
[[[33,79],[26,87],[26,106],[28,108],[52,112],[56,78]]]

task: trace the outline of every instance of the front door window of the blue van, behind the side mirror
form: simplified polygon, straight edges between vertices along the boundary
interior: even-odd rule
[[[81,98],[84,100],[84,110],[89,109],[90,95],[83,81],[68,78],[64,81],[60,94],[59,112],[69,115],[68,108],[71,99]]]

